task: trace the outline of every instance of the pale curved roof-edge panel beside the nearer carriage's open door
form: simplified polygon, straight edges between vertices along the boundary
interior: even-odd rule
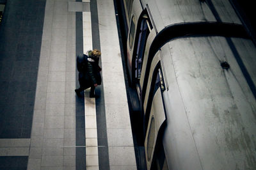
[[[184,50],[183,47],[180,46],[179,50]],[[161,50],[166,81],[168,81],[169,86],[169,90],[163,92],[167,117],[163,134],[163,147],[168,169],[202,169],[172,64],[172,50],[176,49],[170,50],[166,44]]]

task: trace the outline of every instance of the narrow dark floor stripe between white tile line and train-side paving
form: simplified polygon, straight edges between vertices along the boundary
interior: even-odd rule
[[[100,50],[100,35],[99,35],[99,19],[97,10],[97,0],[90,2],[91,20],[92,20],[92,46],[93,49]],[[88,49],[89,50],[89,49]],[[104,54],[103,54],[104,55]],[[101,66],[101,61],[99,63]],[[104,77],[102,77],[104,79]],[[98,153],[99,153],[99,169],[109,169],[109,154],[108,154],[108,136],[106,128],[106,112],[104,103],[103,82],[95,89],[96,98],[96,114],[97,114],[97,135],[98,135]]]

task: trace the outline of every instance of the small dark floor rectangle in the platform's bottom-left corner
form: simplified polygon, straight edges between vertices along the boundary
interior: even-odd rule
[[[17,156],[17,157],[0,157],[0,169],[8,170],[26,170],[28,164],[27,156]]]

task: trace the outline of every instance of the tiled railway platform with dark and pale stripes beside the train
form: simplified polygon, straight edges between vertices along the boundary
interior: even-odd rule
[[[0,169],[137,169],[112,0],[8,0],[0,41]],[[77,97],[91,49],[99,97]]]

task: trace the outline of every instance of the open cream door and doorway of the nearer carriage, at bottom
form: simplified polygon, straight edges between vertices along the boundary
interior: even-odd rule
[[[145,155],[147,160],[147,169],[168,169],[163,150],[163,130],[166,116],[164,113],[164,104],[162,93],[165,90],[163,72],[160,62],[157,64],[151,82],[150,115],[148,118],[147,133],[145,137]]]

